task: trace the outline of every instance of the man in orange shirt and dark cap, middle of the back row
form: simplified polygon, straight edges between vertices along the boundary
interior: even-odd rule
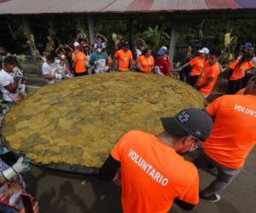
[[[119,72],[131,71],[132,68],[132,54],[129,49],[129,43],[122,43],[122,49],[119,49],[114,57],[118,60],[118,70]]]

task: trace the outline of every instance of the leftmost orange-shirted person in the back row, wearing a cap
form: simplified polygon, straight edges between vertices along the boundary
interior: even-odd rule
[[[74,52],[72,54],[72,60],[74,64],[74,74],[75,76],[87,75],[87,70],[85,67],[85,61],[87,56],[80,50],[81,47],[78,42],[74,43]]]

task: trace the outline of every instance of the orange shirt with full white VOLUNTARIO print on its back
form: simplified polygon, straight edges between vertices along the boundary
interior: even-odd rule
[[[166,213],[175,198],[199,203],[195,165],[155,135],[132,130],[119,140],[111,155],[121,164],[125,213]]]

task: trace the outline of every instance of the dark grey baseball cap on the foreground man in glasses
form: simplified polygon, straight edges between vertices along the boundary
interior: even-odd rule
[[[203,109],[189,108],[170,118],[160,118],[164,129],[170,135],[192,135],[206,141],[212,131],[212,118]]]

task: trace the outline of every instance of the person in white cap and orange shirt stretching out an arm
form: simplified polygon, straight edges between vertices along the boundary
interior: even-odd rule
[[[186,66],[192,66],[192,70],[189,75],[189,84],[191,86],[195,86],[198,78],[201,76],[201,72],[203,67],[205,66],[205,62],[207,61],[207,55],[209,54],[209,49],[203,48],[198,50],[199,56],[190,60],[188,63],[181,66],[177,71],[182,71]]]

